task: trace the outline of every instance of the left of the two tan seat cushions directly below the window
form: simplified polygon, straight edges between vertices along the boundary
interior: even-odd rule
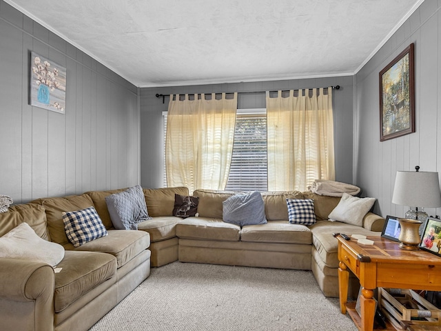
[[[208,217],[187,217],[176,225],[176,235],[183,239],[211,239],[238,241],[240,226],[225,223],[222,219]]]

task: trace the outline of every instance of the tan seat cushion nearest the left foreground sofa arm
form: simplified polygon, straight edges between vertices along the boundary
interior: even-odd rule
[[[101,252],[66,251],[55,274],[54,310],[61,312],[116,274],[116,259]],[[116,279],[116,276],[115,276]]]

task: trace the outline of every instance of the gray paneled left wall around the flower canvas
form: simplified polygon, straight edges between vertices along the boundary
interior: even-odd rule
[[[67,68],[66,112],[29,106],[30,51]],[[15,203],[139,183],[139,90],[0,0],[0,194]]]

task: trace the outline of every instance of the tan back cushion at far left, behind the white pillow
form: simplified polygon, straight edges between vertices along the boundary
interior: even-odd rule
[[[44,207],[37,203],[12,205],[8,212],[0,212],[0,237],[21,223],[28,223],[39,237],[50,241]]]

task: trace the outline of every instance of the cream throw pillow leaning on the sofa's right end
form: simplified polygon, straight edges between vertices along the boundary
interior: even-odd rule
[[[342,199],[329,214],[331,221],[340,221],[352,225],[363,226],[363,218],[371,210],[375,198],[358,198],[343,193]]]

